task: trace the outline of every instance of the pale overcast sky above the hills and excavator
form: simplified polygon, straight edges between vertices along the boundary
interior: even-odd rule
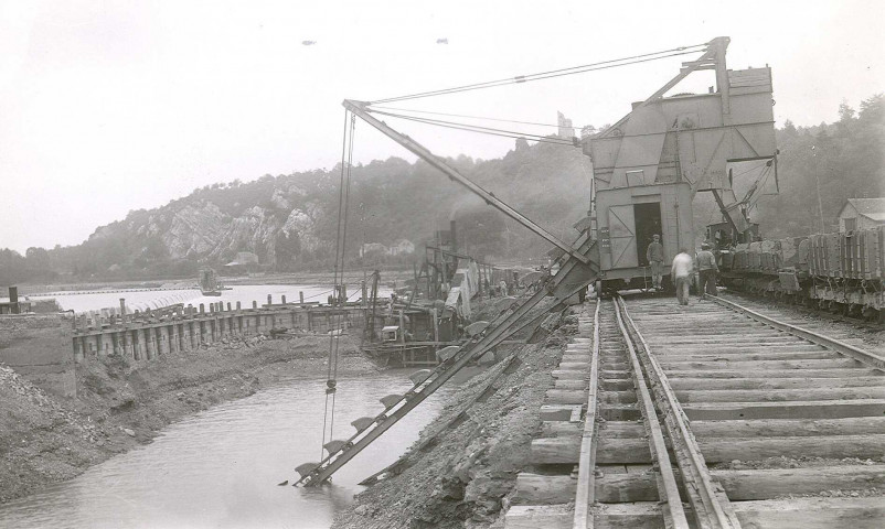
[[[778,126],[833,121],[843,99],[856,108],[885,91],[884,22],[885,2],[872,0],[0,2],[0,248],[75,245],[130,209],[194,187],[332,168],[344,98],[718,35],[732,37],[729,67],[772,67]],[[543,123],[555,123],[558,110],[599,127],[694,56],[401,106]],[[701,77],[689,88],[712,84]],[[442,155],[489,159],[513,145],[388,122]],[[354,155],[412,160],[364,123]]]

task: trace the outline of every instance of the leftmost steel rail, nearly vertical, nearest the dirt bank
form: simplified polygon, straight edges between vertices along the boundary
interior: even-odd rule
[[[580,436],[580,454],[578,455],[578,483],[575,493],[574,529],[593,527],[593,512],[590,505],[596,493],[596,444],[598,440],[596,424],[596,409],[599,400],[599,305],[596,301],[596,311],[593,316],[593,352],[590,356],[590,384],[587,397],[587,412],[584,415],[584,432]]]

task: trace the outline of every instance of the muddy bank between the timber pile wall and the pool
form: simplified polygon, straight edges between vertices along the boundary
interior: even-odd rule
[[[339,374],[377,368],[344,336]],[[0,365],[0,503],[74,477],[149,443],[167,424],[296,377],[326,376],[329,337],[234,339],[150,363],[118,356],[77,367],[78,396],[55,399]]]

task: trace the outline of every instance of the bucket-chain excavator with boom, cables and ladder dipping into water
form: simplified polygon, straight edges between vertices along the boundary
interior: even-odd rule
[[[296,471],[301,477],[295,485],[314,486],[329,479],[458,370],[535,323],[536,319],[526,319],[526,315],[545,298],[554,298],[556,310],[595,281],[600,281],[598,287],[608,290],[641,284],[639,281],[643,279],[644,269],[640,253],[644,255],[644,251],[640,252],[640,248],[644,250],[643,245],[648,244],[646,238],[651,240],[653,233],[662,234],[665,256],[670,258],[681,245],[693,246],[692,198],[699,191],[713,192],[723,214],[738,229],[745,225],[746,219],[735,207],[738,201],[732,191],[726,169],[732,162],[775,156],[771,73],[768,67],[726,69],[728,42],[728,37],[717,37],[706,44],[687,46],[702,47],[701,57],[683,63],[679,75],[648,99],[636,104],[630,114],[597,137],[584,141],[584,152],[594,162],[596,217],[576,224],[579,236],[573,244],[550,234],[424,145],[377,119],[373,112],[388,114],[373,109],[372,102],[343,101],[352,116],[371,125],[439,170],[450,181],[551,242],[562,264],[544,289],[512,312],[502,313],[463,346],[440,350],[441,364],[433,370],[423,369],[412,375],[409,378],[414,385],[405,395],[390,395],[381,399],[384,411],[353,421],[351,424],[355,433],[346,440],[327,443],[324,449],[328,455],[322,461],[299,465]],[[685,47],[668,52],[675,53],[662,56],[694,53]],[[609,63],[612,62],[597,64]],[[557,72],[583,73],[590,69],[582,66]],[[664,97],[680,80],[703,69],[715,71],[715,91],[711,89],[710,94]],[[524,83],[547,77],[546,74],[536,74],[520,76],[512,82]],[[492,82],[465,88],[500,84]],[[449,94],[452,90],[457,88],[399,99]]]

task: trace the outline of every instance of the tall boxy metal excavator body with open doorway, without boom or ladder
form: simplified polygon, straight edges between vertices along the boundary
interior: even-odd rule
[[[589,225],[599,241],[603,291],[651,283],[646,249],[655,234],[667,264],[681,248],[694,249],[692,202],[699,192],[713,193],[737,231],[749,229],[733,169],[761,160],[777,172],[771,69],[728,69],[727,45],[727,37],[714,40],[699,61],[683,63],[673,80],[583,141],[593,161]],[[713,69],[717,89],[662,97],[695,69]]]

